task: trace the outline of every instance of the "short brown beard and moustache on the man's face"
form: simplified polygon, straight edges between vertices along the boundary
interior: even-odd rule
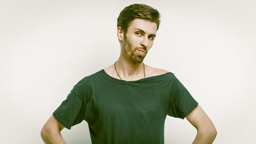
[[[146,53],[140,54],[137,53],[137,49],[144,49]],[[123,39],[123,52],[126,53],[128,58],[132,60],[134,63],[142,63],[145,56],[147,55],[147,50],[144,46],[142,47],[136,47],[134,50],[132,49],[130,43],[127,41],[126,37]]]

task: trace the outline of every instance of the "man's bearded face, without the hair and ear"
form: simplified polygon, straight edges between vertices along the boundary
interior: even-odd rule
[[[134,63],[141,63],[152,47],[156,37],[156,23],[135,19],[124,35],[123,53]]]

